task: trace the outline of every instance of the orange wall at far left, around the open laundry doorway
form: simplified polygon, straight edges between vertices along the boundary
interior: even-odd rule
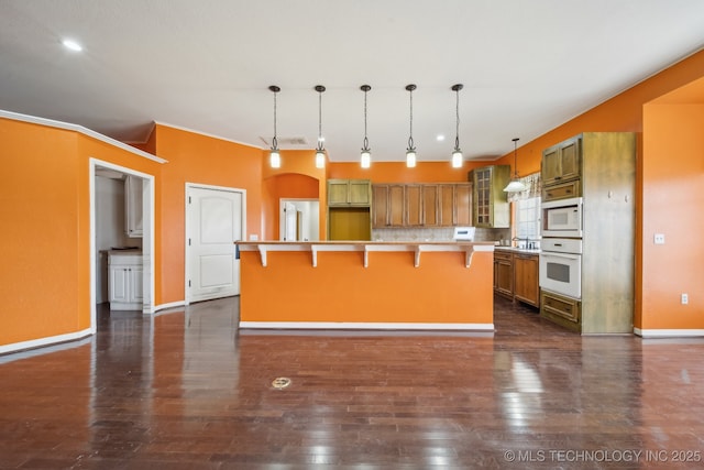
[[[75,131],[0,118],[0,346],[90,327],[89,157],[158,164]]]

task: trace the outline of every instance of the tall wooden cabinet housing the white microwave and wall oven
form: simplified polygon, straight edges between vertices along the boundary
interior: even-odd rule
[[[547,149],[541,172],[543,199],[583,198],[581,299],[543,289],[541,316],[582,334],[632,334],[636,134],[584,132]]]

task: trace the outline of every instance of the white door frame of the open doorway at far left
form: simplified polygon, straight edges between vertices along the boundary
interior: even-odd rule
[[[125,175],[142,178],[142,269],[144,277],[142,280],[142,289],[144,299],[142,302],[142,313],[153,314],[154,308],[154,175],[142,173],[127,166],[116,165],[114,163],[98,160],[96,157],[88,159],[89,177],[88,193],[90,199],[90,332],[96,334],[98,321],[98,309],[96,308],[96,291],[97,291],[97,273],[96,262],[98,252],[96,248],[96,168],[114,170]]]

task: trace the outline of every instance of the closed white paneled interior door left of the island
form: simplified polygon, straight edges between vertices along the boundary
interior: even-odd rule
[[[243,239],[242,193],[188,187],[187,302],[240,294],[240,260],[234,241]]]

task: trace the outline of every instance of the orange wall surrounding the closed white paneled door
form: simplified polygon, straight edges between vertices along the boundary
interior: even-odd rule
[[[262,225],[262,151],[234,142],[156,124],[156,154],[168,160],[162,168],[160,199],[160,273],[155,304],[185,299],[186,183],[246,190],[246,233]]]

